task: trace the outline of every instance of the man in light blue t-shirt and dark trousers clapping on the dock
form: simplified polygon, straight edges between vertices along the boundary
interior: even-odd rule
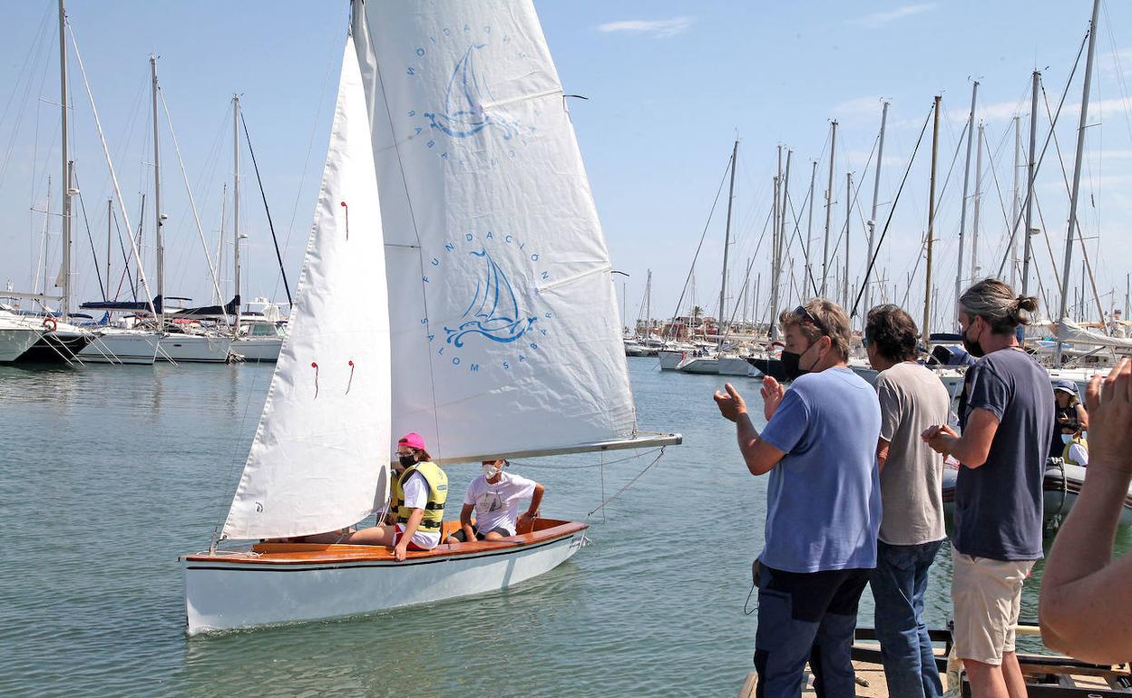
[[[881,410],[872,386],[846,365],[851,335],[839,305],[812,300],[779,321],[792,385],[763,379],[763,432],[730,384],[726,395],[715,393],[720,413],[736,423],[747,469],[770,473],[756,562],[757,696],[799,696],[808,658],[818,695],[851,698],[849,649],[881,525]]]

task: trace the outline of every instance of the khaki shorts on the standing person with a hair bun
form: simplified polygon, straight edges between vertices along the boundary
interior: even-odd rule
[[[959,658],[997,666],[1004,653],[1014,652],[1022,583],[1034,562],[972,558],[952,549],[951,600]]]

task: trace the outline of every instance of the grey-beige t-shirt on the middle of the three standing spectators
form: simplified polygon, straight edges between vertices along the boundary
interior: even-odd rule
[[[881,471],[880,538],[918,545],[946,537],[943,528],[943,456],[920,439],[933,424],[947,423],[947,389],[929,369],[902,362],[876,376],[881,438],[890,442]]]

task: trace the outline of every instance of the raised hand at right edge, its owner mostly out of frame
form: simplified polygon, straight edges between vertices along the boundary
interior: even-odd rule
[[[1089,410],[1089,466],[1132,475],[1132,359],[1122,359],[1084,390]]]

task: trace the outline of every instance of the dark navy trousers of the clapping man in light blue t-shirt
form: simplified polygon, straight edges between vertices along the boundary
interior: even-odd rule
[[[809,661],[818,698],[857,695],[850,652],[868,569],[787,572],[762,566],[756,698],[797,698]]]

